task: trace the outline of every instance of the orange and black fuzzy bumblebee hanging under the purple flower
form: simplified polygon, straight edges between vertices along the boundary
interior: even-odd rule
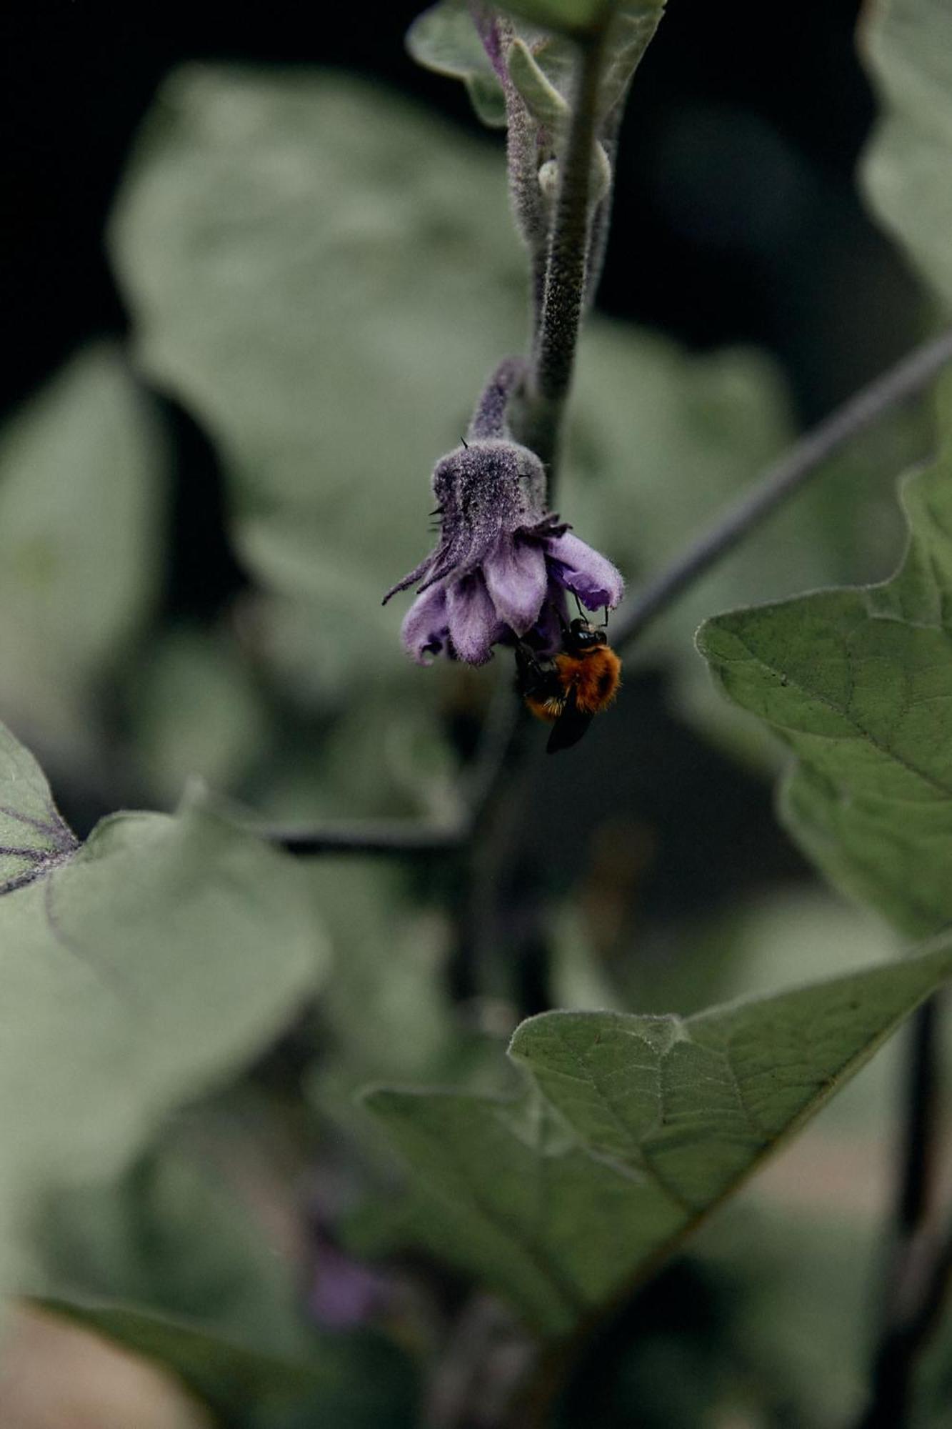
[[[516,646],[516,687],[536,719],[552,725],[546,750],[570,749],[596,714],[612,703],[622,683],[622,662],[600,626],[562,622],[562,649],[540,657],[530,644]]]

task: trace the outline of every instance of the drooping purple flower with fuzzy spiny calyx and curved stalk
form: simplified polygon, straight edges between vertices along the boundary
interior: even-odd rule
[[[523,372],[522,359],[499,366],[467,440],[436,463],[440,539],[385,596],[386,604],[416,584],[402,636],[420,664],[440,652],[483,664],[513,636],[547,652],[557,643],[566,592],[589,610],[622,599],[615,566],[546,510],[542,462],[512,440],[506,404]]]

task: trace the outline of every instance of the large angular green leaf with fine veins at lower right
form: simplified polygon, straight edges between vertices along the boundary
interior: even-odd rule
[[[693,1017],[543,1013],[517,1100],[376,1090],[413,1239],[565,1335],[648,1275],[952,972],[918,956]]]

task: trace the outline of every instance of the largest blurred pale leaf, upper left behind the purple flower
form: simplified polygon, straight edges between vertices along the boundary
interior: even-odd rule
[[[146,372],[222,449],[243,557],[312,602],[314,669],[402,669],[382,594],[523,342],[503,164],[379,87],[194,66],[162,90],[113,252]]]

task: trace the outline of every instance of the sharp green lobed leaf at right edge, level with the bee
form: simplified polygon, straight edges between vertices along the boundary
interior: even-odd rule
[[[909,549],[881,586],[702,626],[723,692],[798,756],[782,815],[825,873],[901,929],[952,919],[952,450],[903,487]]]

